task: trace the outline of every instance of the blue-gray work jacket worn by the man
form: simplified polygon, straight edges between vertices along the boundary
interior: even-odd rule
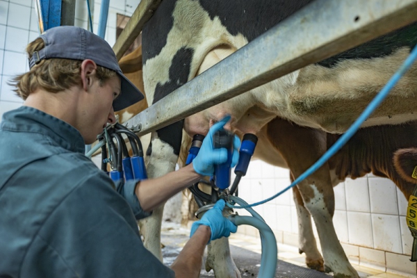
[[[0,277],[174,277],[83,153],[79,131],[56,117],[27,106],[3,115]]]

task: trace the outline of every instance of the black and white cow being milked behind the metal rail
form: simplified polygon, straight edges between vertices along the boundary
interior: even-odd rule
[[[142,31],[142,70],[149,105],[310,2],[162,1]],[[232,115],[231,129],[240,133],[257,133],[277,116],[330,133],[345,131],[398,69],[411,47],[416,45],[416,39],[417,24],[411,24],[152,133],[152,149],[148,150],[149,176],[158,177],[174,170],[181,147],[181,129],[190,136],[205,134],[209,123],[220,120],[225,114]],[[416,76],[417,66],[414,65],[365,126],[417,120]],[[322,238],[325,265],[333,270],[335,277],[358,277],[334,231],[334,193],[327,188],[332,184],[330,177],[326,179],[329,179],[327,184],[303,183],[298,190]],[[161,226],[162,210],[154,211],[153,218],[147,220],[148,225]],[[158,236],[145,238],[145,245],[161,257]],[[315,268],[324,269],[318,252],[303,251],[307,261],[321,264]],[[220,263],[213,263],[216,276],[238,276],[236,267],[220,268]]]

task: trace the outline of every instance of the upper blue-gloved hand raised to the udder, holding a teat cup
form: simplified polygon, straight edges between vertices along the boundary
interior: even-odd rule
[[[220,122],[216,122],[211,126],[206,138],[204,138],[202,147],[199,149],[197,156],[193,160],[193,167],[195,172],[204,176],[213,176],[214,165],[221,164],[227,161],[227,150],[225,148],[214,149],[213,135],[215,131],[223,129],[224,124],[229,122],[230,116],[224,117]],[[231,158],[231,167],[236,166],[239,160],[240,139],[234,136],[233,141],[233,156]]]

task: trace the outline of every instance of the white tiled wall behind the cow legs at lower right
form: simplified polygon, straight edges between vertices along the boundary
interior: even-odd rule
[[[240,181],[239,196],[250,204],[259,202],[290,185],[288,177],[284,168],[251,161]],[[407,200],[392,181],[372,174],[347,179],[334,188],[334,195],[336,234],[352,263],[416,275],[416,263],[409,261],[412,237],[404,216]],[[291,190],[254,209],[275,231],[278,242],[297,246],[297,214]],[[238,232],[256,235],[252,229],[241,227]],[[316,230],[314,233],[318,238]]]

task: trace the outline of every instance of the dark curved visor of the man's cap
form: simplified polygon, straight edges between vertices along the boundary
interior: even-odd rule
[[[120,94],[115,101],[113,101],[113,109],[114,111],[120,111],[126,107],[129,107],[136,102],[142,100],[144,97],[142,92],[138,88],[136,88],[129,79],[126,78],[123,74],[118,73],[120,76],[120,87],[122,89],[122,93]]]

